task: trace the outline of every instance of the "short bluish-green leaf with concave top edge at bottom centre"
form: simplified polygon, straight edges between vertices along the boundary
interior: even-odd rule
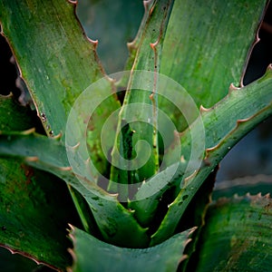
[[[118,248],[72,227],[73,271],[176,271],[192,229],[153,248]]]

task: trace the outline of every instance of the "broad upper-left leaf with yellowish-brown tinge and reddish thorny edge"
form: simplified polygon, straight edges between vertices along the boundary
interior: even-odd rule
[[[0,24],[45,131],[49,136],[64,134],[75,100],[104,76],[95,53],[97,43],[83,34],[75,16],[75,4],[67,0],[1,0]],[[119,107],[111,96],[110,81],[106,88],[110,97],[92,115],[88,134],[92,160],[101,171],[105,170],[106,160],[98,137],[101,128],[96,125]],[[84,116],[82,119],[86,121]],[[113,128],[114,123],[108,128],[109,138],[114,137]]]

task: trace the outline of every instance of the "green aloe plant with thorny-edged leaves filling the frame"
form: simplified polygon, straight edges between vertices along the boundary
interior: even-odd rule
[[[0,96],[0,246],[59,271],[269,271],[270,196],[210,201],[219,161],[272,113],[271,65],[244,86],[267,5],[144,1],[106,75],[77,3],[1,0],[44,131]]]

